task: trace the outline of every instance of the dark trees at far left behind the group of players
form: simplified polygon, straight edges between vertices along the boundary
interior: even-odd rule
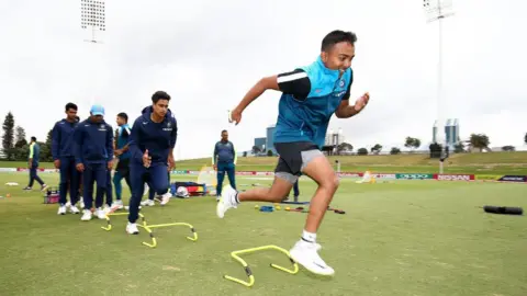
[[[30,155],[30,145],[25,129],[15,125],[14,116],[8,112],[2,125],[2,155],[3,160],[25,161]],[[41,161],[52,161],[52,130],[47,133],[46,141],[38,141],[41,146]]]

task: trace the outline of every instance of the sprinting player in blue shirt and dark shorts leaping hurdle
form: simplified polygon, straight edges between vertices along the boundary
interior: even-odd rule
[[[310,177],[318,189],[311,200],[302,237],[290,253],[294,261],[321,275],[335,273],[317,253],[321,246],[316,243],[316,231],[338,187],[338,177],[321,148],[332,115],[335,113],[339,118],[357,115],[369,100],[366,93],[355,105],[349,105],[356,41],[354,33],[333,31],[322,41],[322,53],[313,64],[264,78],[248,91],[232,113],[231,121],[236,124],[242,112],[266,90],[282,92],[274,134],[274,147],[280,155],[274,182],[270,189],[239,193],[226,187],[216,207],[217,216],[223,218],[227,209],[243,202],[280,202],[301,173]]]

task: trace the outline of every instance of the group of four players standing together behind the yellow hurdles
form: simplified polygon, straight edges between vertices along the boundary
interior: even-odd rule
[[[153,105],[145,107],[142,116],[135,122],[135,127],[139,125],[137,133],[132,134],[127,114],[119,113],[116,116],[119,128],[115,135],[112,126],[104,121],[104,107],[101,105],[93,105],[90,116],[80,122],[77,105],[66,104],[66,118],[57,122],[52,132],[52,156],[55,167],[60,172],[59,215],[66,214],[68,207],[72,214],[80,213],[77,207],[79,203],[82,208],[81,220],[91,220],[92,208],[96,216],[104,219],[109,212],[124,207],[121,185],[123,179],[132,192],[131,213],[137,213],[141,205],[154,205],[156,193],[161,205],[170,201],[169,171],[173,167],[173,158],[169,155],[176,144],[177,124],[168,110],[170,95],[158,91],[154,93],[152,100]],[[147,119],[141,122],[142,118]],[[136,138],[134,143],[131,141],[133,136]],[[148,147],[149,150],[144,147]],[[164,158],[171,161],[161,161]],[[117,163],[112,180],[111,171],[115,161]],[[145,166],[149,169],[145,170]],[[166,182],[160,182],[162,180]],[[112,181],[115,187],[115,202]],[[138,183],[139,186],[136,185]],[[149,187],[149,196],[147,201],[141,203],[145,183]],[[94,184],[97,193],[93,207]],[[141,190],[141,194],[134,194],[134,187]],[[82,198],[79,198],[80,194]],[[104,195],[106,198],[103,205]],[[137,232],[133,226],[135,224],[127,230]]]

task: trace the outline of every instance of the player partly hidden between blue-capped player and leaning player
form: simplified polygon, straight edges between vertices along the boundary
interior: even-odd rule
[[[115,187],[115,204],[112,205],[112,208],[121,209],[123,208],[123,186],[121,181],[124,179],[126,184],[132,192],[132,184],[130,182],[130,150],[128,150],[128,139],[132,130],[128,126],[128,115],[124,112],[117,114],[117,130],[115,133],[115,156],[119,159],[117,168],[113,174],[113,186]]]

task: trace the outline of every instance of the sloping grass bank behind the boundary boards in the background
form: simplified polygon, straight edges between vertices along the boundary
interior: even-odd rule
[[[332,163],[338,159],[341,170],[350,172],[437,173],[439,168],[439,161],[427,155],[340,156],[329,159]],[[273,171],[276,164],[276,157],[238,157],[237,170]],[[0,161],[0,168],[25,166],[24,162]],[[200,170],[203,166],[211,166],[211,159],[182,160],[176,166],[178,170]],[[53,168],[53,163],[42,163],[41,167]],[[445,162],[445,173],[527,175],[527,151],[452,155]]]

